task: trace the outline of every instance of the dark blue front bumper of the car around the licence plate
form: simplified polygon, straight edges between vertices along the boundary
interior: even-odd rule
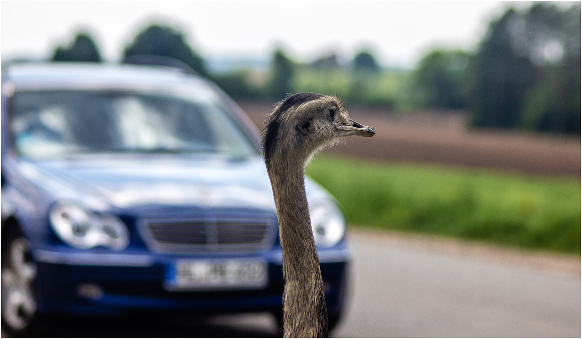
[[[268,263],[269,283],[266,288],[221,291],[164,289],[168,266],[176,259],[196,259],[196,256],[38,249],[33,253],[38,266],[38,311],[41,313],[129,315],[157,310],[171,314],[175,310],[207,314],[281,308],[283,273],[280,249],[260,256],[246,256]],[[346,246],[318,251],[329,312],[339,312],[343,306],[350,253]],[[81,296],[77,291],[83,284],[98,285],[103,293],[98,298]]]

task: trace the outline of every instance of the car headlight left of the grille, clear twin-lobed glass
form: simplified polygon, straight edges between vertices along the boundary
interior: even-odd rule
[[[49,211],[52,229],[74,248],[105,246],[122,250],[129,245],[129,231],[113,214],[97,214],[69,201],[56,202]]]

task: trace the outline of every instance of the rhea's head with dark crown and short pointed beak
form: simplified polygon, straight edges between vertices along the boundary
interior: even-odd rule
[[[313,154],[351,135],[373,136],[373,128],[350,119],[338,97],[299,93],[285,98],[267,116],[261,133],[267,167],[275,162],[306,165]]]

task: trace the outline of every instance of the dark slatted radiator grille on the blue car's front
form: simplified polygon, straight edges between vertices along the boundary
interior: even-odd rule
[[[269,220],[147,220],[141,235],[155,252],[252,252],[272,246]]]

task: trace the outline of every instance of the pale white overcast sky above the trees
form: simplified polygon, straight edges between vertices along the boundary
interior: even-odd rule
[[[267,59],[281,45],[300,61],[368,48],[411,67],[433,47],[474,48],[508,2],[2,2],[2,57],[47,58],[85,30],[107,61],[148,23],[186,32],[205,58]],[[527,3],[517,3],[518,7]]]

